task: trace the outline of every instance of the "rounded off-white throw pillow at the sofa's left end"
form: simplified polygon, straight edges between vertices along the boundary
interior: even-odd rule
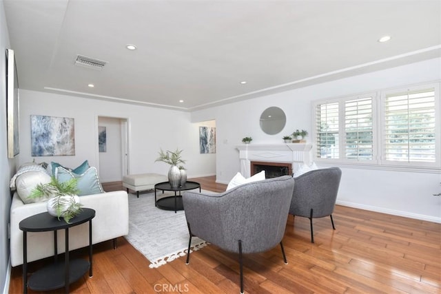
[[[29,198],[32,190],[39,184],[47,184],[50,182],[50,176],[43,171],[27,171],[20,174],[15,179],[15,187],[17,189],[17,194],[19,195],[21,201],[24,204],[43,202],[48,200],[47,198]]]

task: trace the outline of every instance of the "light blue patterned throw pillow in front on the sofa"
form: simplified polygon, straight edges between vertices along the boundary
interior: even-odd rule
[[[57,167],[57,169],[55,169],[55,178],[57,178],[59,182],[67,182],[72,178],[77,178],[78,182],[76,182],[76,187],[79,189],[78,196],[104,192],[95,167],[89,167],[83,174],[75,174],[65,169],[65,167]]]

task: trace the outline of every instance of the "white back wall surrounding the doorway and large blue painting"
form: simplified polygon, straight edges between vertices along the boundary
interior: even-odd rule
[[[168,166],[155,162],[159,148],[183,149],[189,178],[213,176],[214,165],[199,154],[199,129],[190,123],[190,114],[168,109],[127,105],[87,98],[21,90],[19,163],[32,161],[30,149],[30,115],[74,118],[75,156],[36,157],[37,162],[56,161],[76,167],[84,160],[99,167],[98,117],[127,118],[129,128],[130,174],[154,172],[167,174]]]

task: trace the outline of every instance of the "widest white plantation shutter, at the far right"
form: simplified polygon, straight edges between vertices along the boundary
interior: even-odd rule
[[[435,150],[435,90],[387,94],[384,159],[435,162]]]

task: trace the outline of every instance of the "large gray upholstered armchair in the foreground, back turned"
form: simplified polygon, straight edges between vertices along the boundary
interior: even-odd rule
[[[189,230],[187,264],[192,237],[197,236],[225,251],[239,253],[240,293],[243,293],[243,253],[267,251],[280,244],[294,189],[291,176],[240,185],[223,193],[183,193]]]

